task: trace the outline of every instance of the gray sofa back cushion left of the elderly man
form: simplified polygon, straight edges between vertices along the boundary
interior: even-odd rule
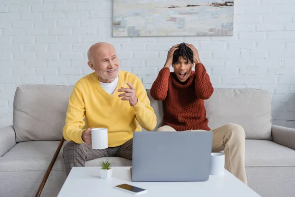
[[[16,141],[60,140],[73,86],[21,85],[13,103]]]

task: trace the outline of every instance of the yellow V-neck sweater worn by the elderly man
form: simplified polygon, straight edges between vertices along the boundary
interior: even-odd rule
[[[128,100],[121,100],[120,87],[129,88],[130,82],[138,98],[131,106]],[[119,70],[118,86],[110,95],[101,87],[95,72],[80,79],[73,89],[66,113],[63,136],[67,141],[84,143],[82,132],[88,128],[108,128],[109,147],[122,145],[133,137],[141,126],[152,131],[156,126],[156,115],[150,106],[141,80],[133,73]]]

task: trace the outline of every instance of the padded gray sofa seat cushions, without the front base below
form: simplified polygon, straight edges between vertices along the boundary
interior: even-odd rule
[[[58,145],[59,141],[20,142],[0,157],[0,171],[46,170]],[[105,159],[87,161],[86,166],[98,166]],[[124,158],[110,161],[114,166],[132,165]],[[295,166],[295,150],[269,140],[246,139],[245,166]],[[62,149],[53,169],[64,170]]]

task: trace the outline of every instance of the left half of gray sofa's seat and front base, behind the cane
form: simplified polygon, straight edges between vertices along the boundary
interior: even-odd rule
[[[0,177],[1,180],[5,180],[1,181],[0,184],[0,191],[5,191],[5,194],[1,194],[0,196],[35,196],[58,145],[59,141],[20,142],[0,157]],[[102,160],[106,159],[99,158],[88,161],[86,162],[86,166],[98,166]],[[131,160],[124,158],[113,157],[110,158],[110,161],[114,163],[114,166],[132,165]],[[61,149],[41,197],[56,197],[65,179],[66,175]],[[12,187],[12,184],[16,187]]]

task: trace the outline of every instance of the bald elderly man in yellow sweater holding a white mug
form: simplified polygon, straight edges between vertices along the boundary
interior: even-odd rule
[[[96,43],[88,59],[94,72],[75,84],[63,128],[69,141],[63,148],[66,174],[73,166],[101,157],[132,159],[133,132],[156,126],[146,89],[135,74],[119,70],[114,46]],[[91,148],[91,128],[108,129],[108,148]]]

